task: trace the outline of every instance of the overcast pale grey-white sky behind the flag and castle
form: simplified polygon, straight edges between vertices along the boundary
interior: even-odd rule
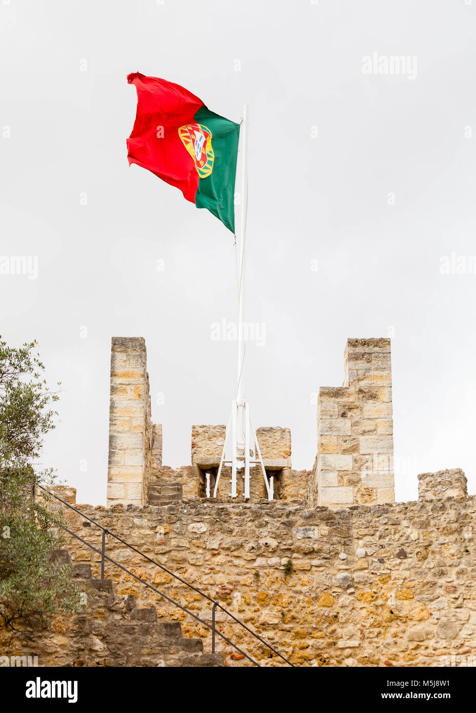
[[[79,502],[105,503],[112,336],[145,337],[165,464],[235,388],[236,344],[210,339],[237,318],[232,234],[128,168],[132,71],[233,120],[249,103],[255,425],[311,468],[347,337],[393,336],[397,499],[440,468],[476,492],[476,274],[441,273],[476,255],[476,0],[0,0],[0,21],[0,254],[38,256],[37,279],[0,275],[0,331],[62,382],[44,461]],[[363,73],[373,52],[416,63]]]

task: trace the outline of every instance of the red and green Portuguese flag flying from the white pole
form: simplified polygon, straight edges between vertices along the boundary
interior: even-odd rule
[[[137,163],[180,188],[197,208],[207,208],[234,232],[234,179],[239,124],[209,111],[178,84],[139,72],[138,108],[128,138],[129,164]]]

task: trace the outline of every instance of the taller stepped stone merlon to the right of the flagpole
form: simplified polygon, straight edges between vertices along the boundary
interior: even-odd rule
[[[395,500],[390,339],[348,339],[344,384],[321,387],[307,506]]]

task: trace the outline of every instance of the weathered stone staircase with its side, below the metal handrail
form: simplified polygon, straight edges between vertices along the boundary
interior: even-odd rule
[[[67,550],[54,556],[70,561]],[[0,630],[5,655],[38,657],[53,667],[220,667],[222,654],[204,654],[202,639],[182,635],[180,622],[157,621],[155,607],[138,608],[133,595],[118,595],[109,579],[95,579],[86,563],[73,564],[83,605],[48,618],[34,637],[30,630]],[[177,611],[180,611],[177,608]]]

